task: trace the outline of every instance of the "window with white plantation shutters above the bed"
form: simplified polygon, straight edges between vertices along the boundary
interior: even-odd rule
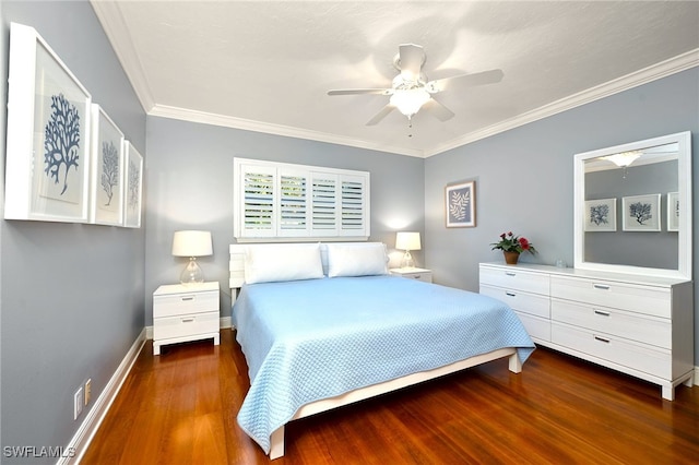
[[[369,174],[234,158],[234,236],[368,239]]]

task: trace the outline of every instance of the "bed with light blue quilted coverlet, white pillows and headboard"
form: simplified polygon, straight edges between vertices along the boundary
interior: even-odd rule
[[[270,458],[292,420],[502,357],[519,373],[534,350],[503,302],[387,263],[378,242],[230,246],[250,377],[237,420]]]

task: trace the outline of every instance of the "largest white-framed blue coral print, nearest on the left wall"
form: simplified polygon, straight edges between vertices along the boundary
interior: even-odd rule
[[[32,27],[10,26],[7,219],[87,223],[92,97]]]

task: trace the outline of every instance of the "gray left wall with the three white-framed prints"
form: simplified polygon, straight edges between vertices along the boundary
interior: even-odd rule
[[[90,3],[3,0],[1,8],[0,81],[8,82],[10,22],[35,27],[146,156],[145,114]],[[0,257],[2,446],[64,446],[95,405],[73,421],[75,390],[92,378],[96,400],[143,330],[144,229],[2,219]]]

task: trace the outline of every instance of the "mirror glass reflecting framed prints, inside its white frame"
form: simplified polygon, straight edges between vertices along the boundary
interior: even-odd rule
[[[584,162],[584,260],[678,269],[677,143]]]

